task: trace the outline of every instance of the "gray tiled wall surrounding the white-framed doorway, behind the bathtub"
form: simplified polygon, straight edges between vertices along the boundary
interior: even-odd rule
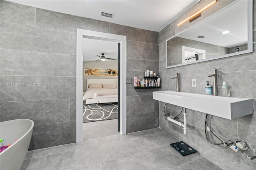
[[[0,121],[33,120],[29,150],[76,142],[77,28],[127,36],[127,77],[158,73],[158,32],[0,3],[0,81],[28,85],[0,87]],[[128,84],[127,105],[127,132],[158,127],[152,90]]]

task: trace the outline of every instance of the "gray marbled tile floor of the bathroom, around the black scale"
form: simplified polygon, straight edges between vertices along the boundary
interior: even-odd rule
[[[21,170],[221,170],[199,153],[181,156],[160,128],[29,151]]]

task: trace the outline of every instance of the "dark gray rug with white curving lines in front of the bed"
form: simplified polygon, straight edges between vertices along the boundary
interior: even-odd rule
[[[117,103],[89,104],[83,106],[83,123],[118,119]]]

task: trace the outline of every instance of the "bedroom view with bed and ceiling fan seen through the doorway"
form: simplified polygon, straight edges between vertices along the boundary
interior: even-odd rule
[[[83,41],[83,139],[120,134],[120,43]]]

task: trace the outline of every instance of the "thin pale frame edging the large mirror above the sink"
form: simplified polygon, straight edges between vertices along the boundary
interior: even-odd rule
[[[217,12],[213,13],[212,15],[204,18],[202,21],[194,24],[193,26],[203,22],[204,20],[207,20],[208,18],[214,16],[215,14],[219,13],[220,11],[222,10],[225,10],[226,8],[228,8],[229,6],[232,6],[233,4],[239,2],[238,0],[236,0],[235,2],[232,2],[231,4],[225,6],[224,8],[218,10]],[[241,55],[241,54],[245,54],[245,53],[251,53],[253,52],[253,37],[252,37],[252,34],[253,34],[253,1],[252,0],[248,0],[247,1],[247,30],[248,30],[248,42],[247,42],[247,50],[244,50],[244,51],[238,51],[238,52],[235,52],[235,53],[229,53],[229,54],[225,54],[225,55],[220,55],[220,56],[216,56],[216,57],[211,57],[211,58],[208,58],[208,59],[202,59],[202,60],[198,60],[198,61],[192,61],[192,62],[188,62],[188,63],[181,63],[181,64],[176,64],[176,65],[170,65],[168,66],[167,63],[168,63],[168,59],[167,59],[167,42],[169,40],[171,40],[172,38],[182,34],[183,32],[185,32],[186,30],[188,30],[189,28],[193,27],[193,26],[190,26],[188,28],[186,28],[185,30],[183,30],[182,32],[179,32],[178,34],[175,34],[174,36],[172,36],[171,38],[169,38],[168,40],[165,41],[165,45],[166,45],[166,68],[173,68],[173,67],[179,67],[179,66],[182,66],[182,65],[189,65],[189,64],[193,64],[193,63],[201,63],[201,62],[205,62],[205,61],[211,61],[211,60],[214,60],[214,59],[220,59],[220,58],[225,58],[225,57],[231,57],[231,56],[235,56],[235,55]]]

